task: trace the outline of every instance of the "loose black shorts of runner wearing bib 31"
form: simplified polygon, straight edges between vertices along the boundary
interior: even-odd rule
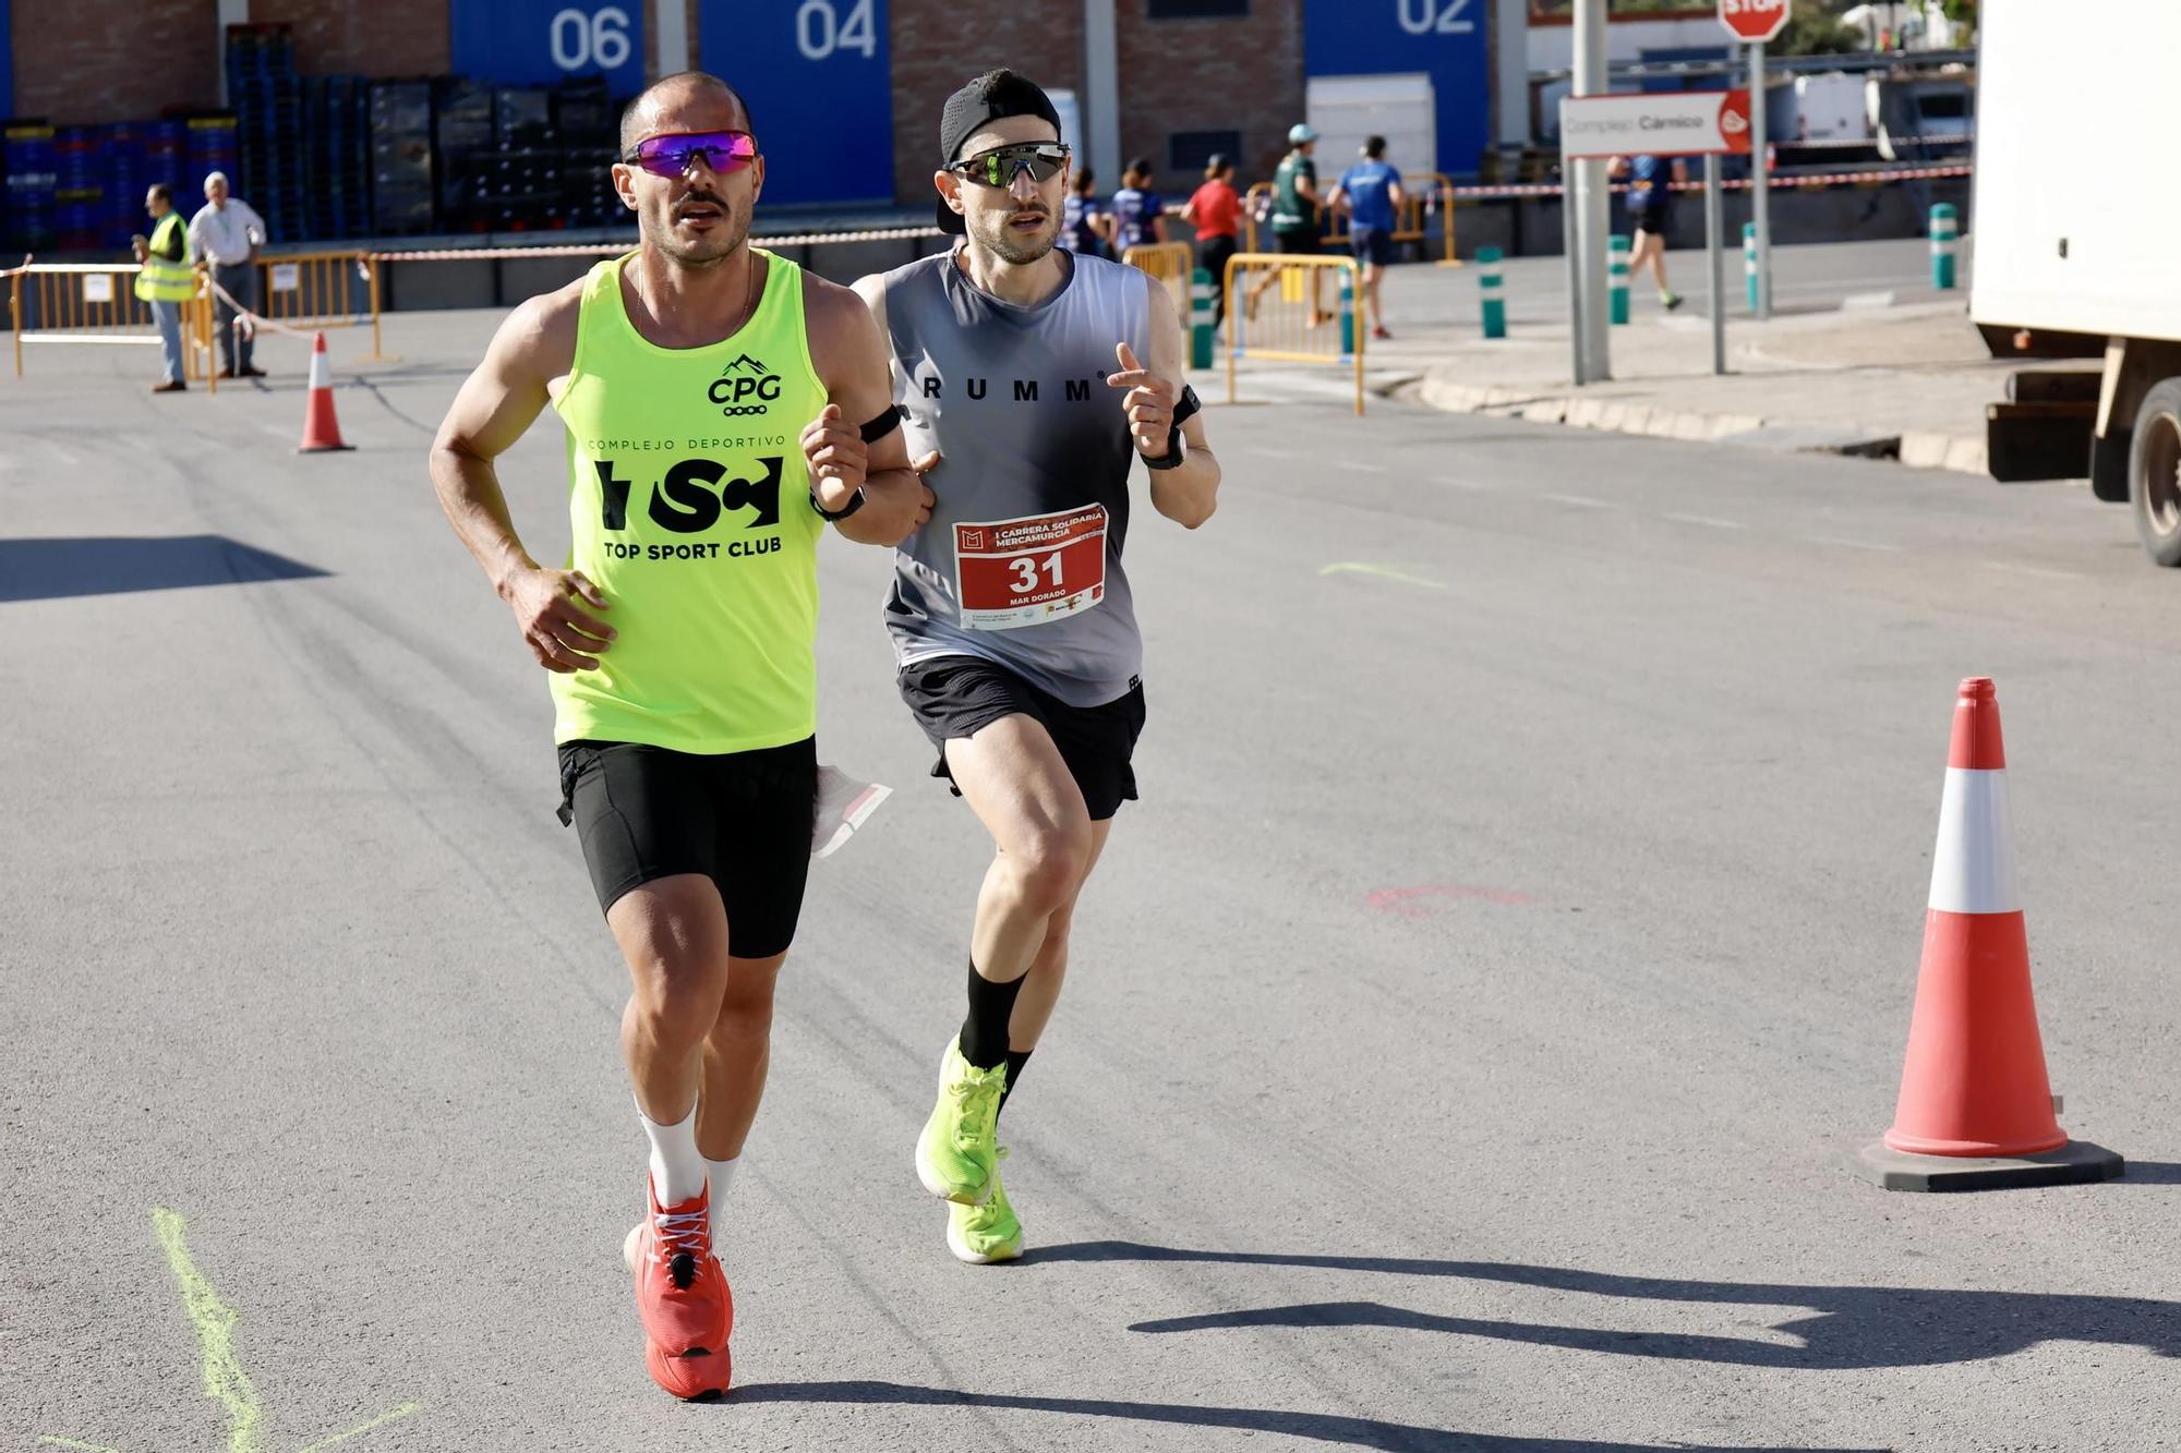
[[[916,724],[940,750],[933,777],[953,783],[947,770],[947,742],[968,737],[1003,716],[1027,716],[1045,726],[1069,764],[1069,774],[1082,788],[1090,820],[1101,822],[1136,801],[1136,770],[1130,757],[1143,735],[1143,683],[1130,681],[1128,694],[1099,707],[1071,707],[1049,696],[1014,672],[981,657],[927,657],[901,668],[901,700],[909,703]],[[955,788],[955,796],[960,796]]]

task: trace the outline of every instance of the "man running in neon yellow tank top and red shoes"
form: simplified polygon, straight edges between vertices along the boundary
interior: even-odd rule
[[[748,109],[667,76],[622,118],[613,183],[641,247],[502,323],[432,445],[456,535],[554,672],[576,820],[635,993],[622,1054],[650,1139],[628,1237],[646,1366],[726,1392],[715,1257],[766,1084],[772,988],[803,905],[816,792],[816,543],[929,519],[864,303],[748,244]],[[567,425],[574,559],[539,565],[493,460],[547,401]]]

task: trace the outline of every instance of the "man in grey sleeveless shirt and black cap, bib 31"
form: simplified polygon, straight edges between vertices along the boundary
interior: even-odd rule
[[[894,353],[909,447],[938,452],[931,519],[894,552],[885,624],[901,696],[992,833],[968,1014],[940,1060],[916,1174],[962,1261],[1012,1261],[999,1108],[1067,975],[1069,925],[1112,816],[1136,796],[1143,639],[1121,569],[1130,471],[1186,528],[1219,493],[1182,325],[1158,279],[1056,251],[1069,148],[1045,92],[977,76],[940,120],[953,251],[857,292]]]

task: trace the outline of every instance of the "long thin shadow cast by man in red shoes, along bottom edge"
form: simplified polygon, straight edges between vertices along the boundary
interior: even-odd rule
[[[1280,1412],[1272,1407],[1200,1407],[1193,1403],[1121,1403],[1112,1398],[1029,1398],[999,1392],[953,1392],[949,1388],[914,1388],[909,1383],[757,1383],[735,1388],[722,1407],[748,1403],[864,1403],[894,1407],[971,1407],[990,1412],[1049,1412],[1075,1418],[1123,1418],[1130,1422],[1176,1422],[1182,1427],[1230,1427],[1250,1433],[1287,1433],[1313,1442],[1339,1442],[1352,1449],[1387,1449],[1389,1453],[1863,1453],[1830,1449],[1754,1449],[1695,1442],[1594,1442],[1588,1438],[1501,1438],[1496,1433],[1457,1433],[1413,1422],[1381,1422],[1341,1414]]]

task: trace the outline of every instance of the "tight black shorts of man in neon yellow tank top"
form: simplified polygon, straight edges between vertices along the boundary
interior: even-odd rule
[[[598,908],[656,877],[702,873],[720,888],[735,958],[794,942],[816,816],[816,737],[722,757],[561,744],[561,820],[582,838]]]

